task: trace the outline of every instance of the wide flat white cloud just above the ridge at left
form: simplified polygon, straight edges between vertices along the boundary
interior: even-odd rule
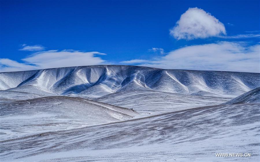
[[[104,55],[100,52],[80,52],[76,50],[49,50],[35,52],[34,54],[22,59],[23,63],[18,63],[10,59],[0,59],[1,72],[101,65],[107,63],[100,57],[96,57],[97,54]]]

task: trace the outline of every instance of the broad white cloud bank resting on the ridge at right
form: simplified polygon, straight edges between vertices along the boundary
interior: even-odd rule
[[[129,61],[131,63],[131,61]],[[163,69],[190,69],[260,72],[260,45],[248,46],[246,42],[218,42],[186,46],[169,52],[139,66]]]

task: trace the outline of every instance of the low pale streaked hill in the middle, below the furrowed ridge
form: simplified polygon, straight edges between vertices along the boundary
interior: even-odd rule
[[[218,105],[231,98],[215,96],[193,96],[148,90],[128,90],[116,92],[94,99],[124,108],[133,108],[138,112],[158,115],[184,109]]]

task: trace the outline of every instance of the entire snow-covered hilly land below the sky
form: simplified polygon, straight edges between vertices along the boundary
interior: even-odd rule
[[[258,73],[124,65],[0,73],[0,160],[259,161],[258,87]]]

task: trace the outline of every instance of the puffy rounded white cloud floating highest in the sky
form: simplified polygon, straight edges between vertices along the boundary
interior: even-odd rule
[[[170,34],[175,39],[197,39],[226,34],[222,22],[200,8],[189,8],[181,15]]]

